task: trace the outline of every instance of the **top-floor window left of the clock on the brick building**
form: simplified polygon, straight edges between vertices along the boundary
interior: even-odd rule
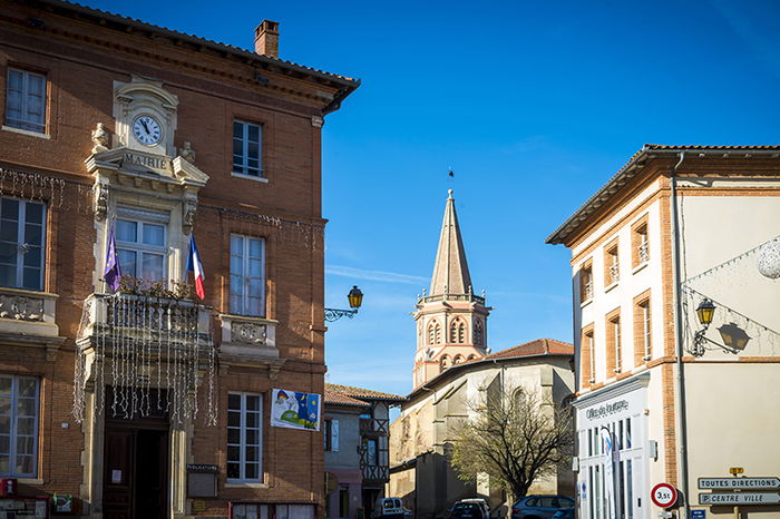
[[[6,125],[43,134],[46,131],[46,76],[8,69]]]

